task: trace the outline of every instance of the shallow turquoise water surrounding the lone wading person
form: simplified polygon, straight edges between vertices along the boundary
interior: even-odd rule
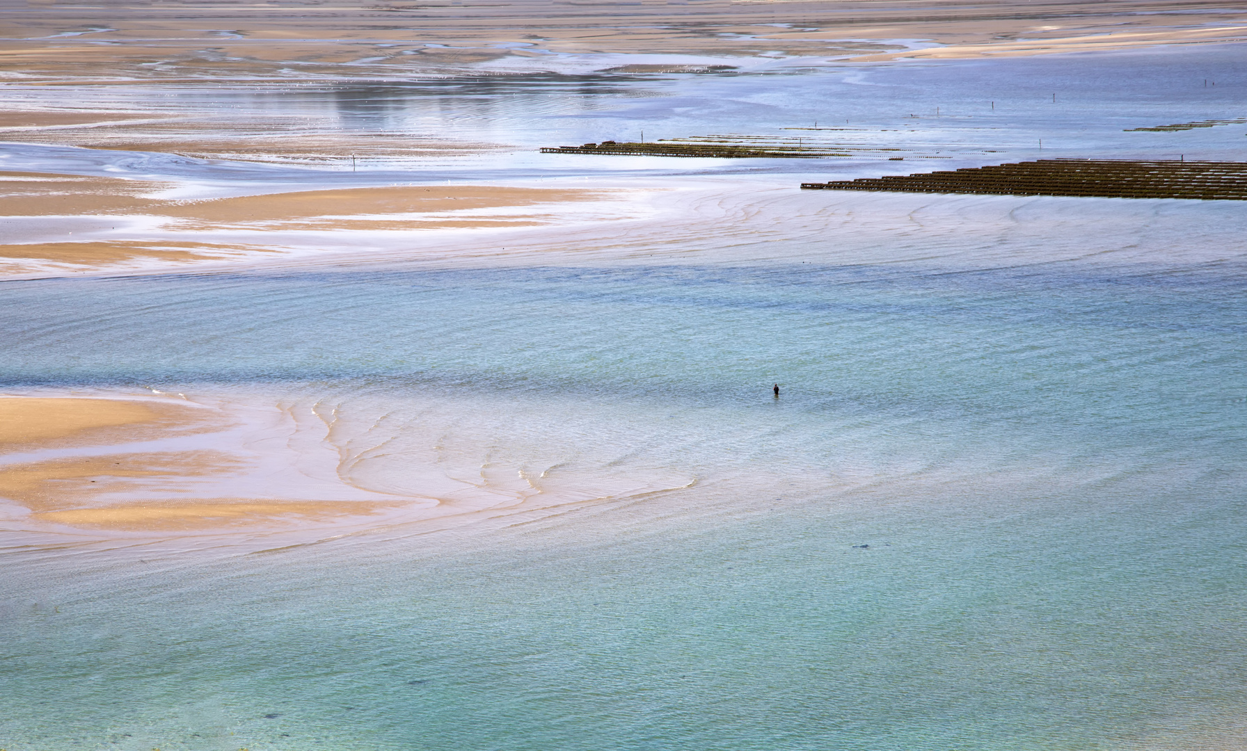
[[[1245,280],[1070,262],[6,283],[7,387],[315,399],[348,426],[433,421],[481,461],[697,484],[272,553],[9,536],[2,741],[1218,747],[1247,678]]]

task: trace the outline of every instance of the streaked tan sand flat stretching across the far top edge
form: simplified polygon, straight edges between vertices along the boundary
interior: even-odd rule
[[[978,45],[1044,37],[1046,49],[1105,34],[1148,32],[1137,44],[1238,39],[1241,5],[1207,2],[599,2],[459,5],[337,4],[333,9],[188,6],[110,9],[84,24],[81,6],[7,14],[0,59],[27,75],[272,76],[314,67],[360,75],[368,66],[464,66],[545,52],[852,55],[895,39],[927,39],[976,55]],[[786,22],[777,26],[777,22]],[[791,27],[786,27],[791,26]],[[1171,34],[1172,31],[1172,34]],[[1186,36],[1183,36],[1186,35]],[[428,46],[443,45],[443,46]],[[90,66],[84,67],[84,66]]]

